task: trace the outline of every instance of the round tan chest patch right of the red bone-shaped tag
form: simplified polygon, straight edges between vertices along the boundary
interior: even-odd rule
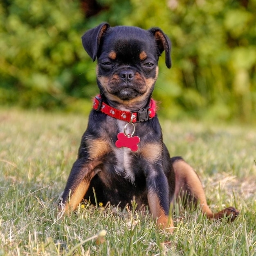
[[[150,163],[156,162],[162,157],[162,145],[159,143],[145,144],[141,149],[141,156]]]

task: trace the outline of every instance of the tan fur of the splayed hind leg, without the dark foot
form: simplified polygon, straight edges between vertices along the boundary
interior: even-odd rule
[[[204,194],[204,189],[202,183],[196,175],[193,168],[183,160],[178,160],[173,163],[173,168],[175,171],[175,198],[178,198],[180,191],[182,189],[182,184],[184,182],[189,187],[191,195],[198,198],[200,208],[203,213],[207,215],[208,218],[213,218],[213,213],[207,205],[206,197]]]

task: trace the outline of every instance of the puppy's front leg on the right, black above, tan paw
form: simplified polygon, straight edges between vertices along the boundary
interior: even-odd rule
[[[150,168],[150,167],[149,167]],[[157,219],[157,226],[161,229],[173,231],[173,220],[169,216],[170,199],[169,186],[162,168],[151,169],[147,175],[148,205],[154,219]]]

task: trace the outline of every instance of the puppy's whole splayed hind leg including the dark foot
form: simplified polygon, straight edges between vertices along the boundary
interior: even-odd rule
[[[213,213],[207,205],[204,189],[197,173],[187,164],[182,157],[171,158],[175,171],[175,198],[180,200],[185,205],[199,203],[202,213],[206,214],[207,218],[220,219],[225,216],[230,216],[233,221],[239,214],[239,211],[234,207],[228,207],[218,213]]]

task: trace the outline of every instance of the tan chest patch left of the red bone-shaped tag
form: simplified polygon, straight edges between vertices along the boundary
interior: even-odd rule
[[[88,141],[88,152],[91,159],[97,159],[99,157],[102,157],[103,155],[108,153],[109,150],[110,147],[106,140],[92,139]]]

